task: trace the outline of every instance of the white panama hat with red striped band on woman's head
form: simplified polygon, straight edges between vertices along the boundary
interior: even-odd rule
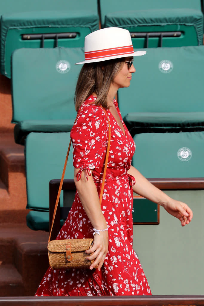
[[[130,32],[122,28],[104,28],[88,34],[84,40],[85,61],[87,64],[146,54],[146,51],[135,51]]]

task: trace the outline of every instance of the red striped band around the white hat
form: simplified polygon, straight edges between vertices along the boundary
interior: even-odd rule
[[[95,59],[95,58],[106,58],[109,56],[125,55],[129,53],[134,53],[134,49],[132,45],[126,46],[126,47],[118,47],[118,48],[110,48],[110,49],[84,52],[86,60]]]

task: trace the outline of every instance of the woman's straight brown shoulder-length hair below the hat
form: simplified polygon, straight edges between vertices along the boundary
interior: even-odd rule
[[[75,90],[76,111],[92,93],[97,96],[96,105],[108,108],[107,95],[109,88],[117,73],[122,69],[124,60],[125,58],[117,58],[83,65]]]

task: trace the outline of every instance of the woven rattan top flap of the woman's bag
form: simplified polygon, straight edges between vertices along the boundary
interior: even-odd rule
[[[87,239],[63,239],[52,240],[48,243],[47,248],[50,252],[66,253],[66,244],[71,243],[71,252],[82,252],[90,248],[93,238]]]

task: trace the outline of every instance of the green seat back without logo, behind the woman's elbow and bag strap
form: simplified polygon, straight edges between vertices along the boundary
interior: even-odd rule
[[[49,210],[49,181],[61,179],[70,133],[28,134],[25,143],[27,208]],[[72,148],[65,178],[73,179]]]

